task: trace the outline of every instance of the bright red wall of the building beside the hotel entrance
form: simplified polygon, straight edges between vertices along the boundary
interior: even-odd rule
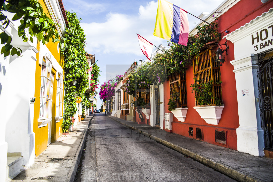
[[[225,14],[221,15],[219,19],[218,31],[221,36],[227,35],[225,30],[229,33],[238,29],[250,20],[255,19],[262,13],[267,12],[273,7],[273,1],[269,1],[263,4],[261,1],[249,1],[241,0],[235,6],[230,8]],[[223,35],[224,33],[224,35]],[[225,43],[226,39],[219,41],[219,43]],[[187,80],[187,100],[188,100],[188,112],[185,122],[178,121],[175,117],[172,122],[172,132],[183,136],[189,136],[189,127],[194,128],[194,134],[196,133],[195,128],[202,128],[203,130],[203,141],[220,145],[223,147],[237,150],[237,137],[236,128],[239,127],[238,117],[238,103],[237,103],[237,92],[235,74],[233,72],[233,65],[229,62],[234,60],[234,46],[233,43],[228,41],[229,49],[227,50],[228,55],[225,55],[225,63],[220,67],[221,80],[222,80],[222,98],[224,109],[221,115],[221,119],[218,125],[207,124],[200,115],[193,109],[195,106],[194,94],[191,93],[191,84],[193,84],[193,67],[189,66],[186,71]],[[217,49],[217,48],[216,48]],[[213,49],[214,50],[214,49]],[[170,99],[170,88],[169,81],[164,83],[164,99],[165,99],[165,112],[168,111],[168,100]],[[165,124],[164,124],[165,126]],[[227,145],[219,144],[215,142],[215,129],[227,131]],[[191,138],[196,138],[193,136]]]

